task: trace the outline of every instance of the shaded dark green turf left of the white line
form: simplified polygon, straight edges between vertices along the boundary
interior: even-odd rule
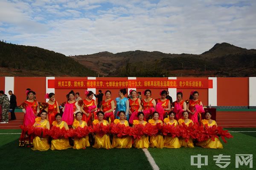
[[[33,151],[18,147],[17,140],[0,147],[1,167],[7,169],[93,169],[93,170],[151,170],[141,149],[94,149]]]

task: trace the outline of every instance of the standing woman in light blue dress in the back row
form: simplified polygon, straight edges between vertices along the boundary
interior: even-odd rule
[[[115,117],[116,119],[119,119],[118,113],[119,111],[125,112],[125,120],[129,120],[129,100],[125,97],[125,94],[127,94],[126,89],[123,88],[119,90],[118,96],[116,98],[116,111],[115,111]]]

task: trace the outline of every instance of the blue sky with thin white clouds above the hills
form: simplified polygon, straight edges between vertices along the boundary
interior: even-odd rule
[[[65,55],[256,48],[255,0],[0,0],[0,40]]]

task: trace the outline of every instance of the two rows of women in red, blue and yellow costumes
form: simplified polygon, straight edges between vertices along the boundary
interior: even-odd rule
[[[130,91],[131,99],[125,97],[125,89],[119,91],[119,97],[116,98],[116,109],[114,108],[114,101],[111,99],[111,91],[106,91],[106,99],[102,101],[101,108],[97,108],[96,101],[93,99],[93,92],[86,91],[87,98],[84,100],[75,100],[75,94],[70,91],[67,94],[67,102],[62,103],[63,114],[60,114],[58,102],[55,101],[55,94],[50,93],[45,96],[49,99],[47,103],[39,103],[35,100],[34,91],[26,91],[27,100],[23,102],[20,108],[23,108],[24,114],[24,126],[34,126],[40,128],[77,128],[84,126],[95,126],[96,124],[108,125],[110,123],[123,124],[125,126],[135,127],[137,124],[146,125],[161,125],[170,124],[178,125],[183,122],[185,125],[200,124],[201,115],[196,111],[196,105],[202,105],[202,102],[198,99],[198,92],[193,91],[191,96],[193,98],[186,104],[183,101],[182,92],[177,92],[177,101],[170,103],[166,99],[167,91],[160,91],[159,99],[151,98],[151,91],[146,90],[144,92],[145,99],[142,101],[137,98],[137,92]],[[40,112],[40,108],[43,111]],[[114,111],[115,109],[115,111]],[[40,115],[39,115],[40,113]],[[198,113],[198,117],[195,118],[194,114]],[[216,122],[211,118],[211,113],[205,114],[208,126],[216,125]],[[179,147],[194,147],[192,139],[186,142],[182,138],[173,138],[170,136],[163,136],[158,134],[157,136],[142,136],[140,139],[132,139],[131,136],[118,138],[117,136],[110,136],[105,134],[99,136],[97,133],[90,134],[90,138],[94,139],[94,148],[179,148]],[[90,140],[91,141],[91,140]],[[112,141],[112,143],[111,143]],[[27,135],[26,132],[22,132],[19,140],[20,146],[33,145],[33,150],[62,150],[72,147],[69,139],[52,139],[49,142],[48,138],[41,138],[39,136]],[[81,149],[90,146],[89,136],[83,138],[73,139],[73,148]],[[207,140],[205,142],[198,142],[198,146],[206,148],[222,148],[222,144],[219,139],[215,141]]]

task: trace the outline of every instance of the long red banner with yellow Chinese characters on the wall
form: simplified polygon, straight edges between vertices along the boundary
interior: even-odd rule
[[[209,79],[150,79],[150,80],[48,80],[48,88],[212,88]]]

